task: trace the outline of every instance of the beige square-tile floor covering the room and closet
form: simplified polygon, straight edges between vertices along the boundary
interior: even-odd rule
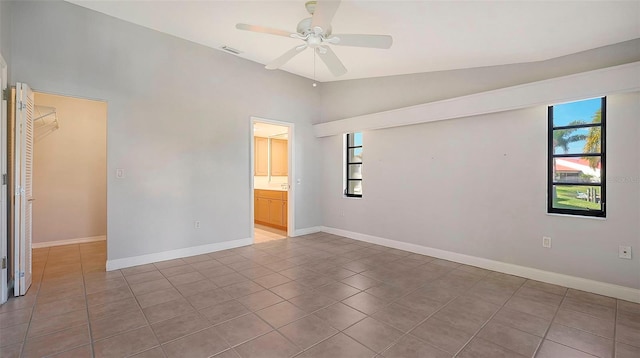
[[[1,357],[640,357],[640,305],[318,233],[105,272],[37,249]]]

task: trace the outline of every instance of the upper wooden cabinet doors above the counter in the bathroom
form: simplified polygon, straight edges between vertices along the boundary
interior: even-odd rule
[[[269,144],[269,142],[271,142],[271,144]],[[271,149],[269,149],[269,147],[271,147]],[[269,164],[271,165],[271,175],[287,176],[289,174],[289,146],[287,140],[254,137],[253,148],[253,175],[269,175]]]

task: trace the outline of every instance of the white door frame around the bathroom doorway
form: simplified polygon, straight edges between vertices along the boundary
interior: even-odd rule
[[[294,142],[295,142],[295,136],[294,136],[294,130],[295,130],[295,125],[294,123],[291,122],[284,122],[284,121],[278,121],[278,120],[273,120],[273,119],[266,119],[266,118],[260,118],[260,117],[254,117],[252,116],[250,118],[250,128],[249,128],[249,142],[250,142],[250,152],[249,152],[249,157],[251,158],[251,160],[249,161],[249,174],[250,174],[250,182],[251,182],[251,187],[250,187],[250,195],[249,195],[249,201],[250,201],[250,208],[251,208],[251,221],[250,221],[250,229],[251,229],[251,241],[255,242],[256,238],[255,238],[255,231],[254,231],[254,225],[255,225],[255,202],[254,202],[254,189],[255,189],[255,183],[254,183],[254,166],[255,166],[255,141],[254,141],[254,130],[253,127],[256,123],[267,123],[267,124],[274,124],[277,126],[282,126],[282,127],[287,127],[288,128],[288,138],[287,138],[287,183],[289,185],[289,190],[287,192],[287,236],[289,237],[293,237],[294,233],[295,233],[295,185],[292,185],[293,182],[293,178],[295,178],[295,153],[293,151],[293,148],[295,148],[294,146]]]

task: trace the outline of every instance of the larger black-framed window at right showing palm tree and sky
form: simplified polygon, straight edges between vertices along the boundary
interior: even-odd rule
[[[549,213],[605,216],[606,112],[606,97],[549,106]]]

